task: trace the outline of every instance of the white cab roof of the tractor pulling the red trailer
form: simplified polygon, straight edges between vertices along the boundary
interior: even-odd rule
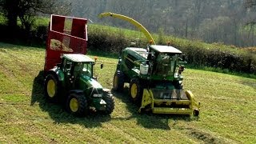
[[[63,54],[63,58],[66,58],[73,62],[94,62],[93,59],[89,58],[84,54]]]

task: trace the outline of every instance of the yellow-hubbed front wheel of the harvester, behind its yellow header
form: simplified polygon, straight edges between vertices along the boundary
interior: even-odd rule
[[[135,102],[138,105],[142,103],[142,93],[143,93],[142,90],[143,88],[138,78],[132,78],[130,80],[129,94],[133,102]]]

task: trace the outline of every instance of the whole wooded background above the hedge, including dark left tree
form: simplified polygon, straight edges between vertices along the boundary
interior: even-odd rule
[[[0,14],[7,19],[2,30],[10,35],[18,31],[18,19],[22,32],[29,34],[35,18],[49,14],[134,30],[127,22],[98,18],[109,11],[134,18],[151,33],[243,47],[256,44],[256,0],[0,0]]]

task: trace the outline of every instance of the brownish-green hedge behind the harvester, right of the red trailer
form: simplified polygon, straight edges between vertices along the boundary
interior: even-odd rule
[[[94,28],[89,31],[89,49],[105,52],[118,53],[126,46],[130,46],[129,35],[113,33],[110,30]],[[208,66],[230,71],[248,74],[256,74],[256,54],[247,50],[238,50],[234,46],[223,46],[212,44],[206,48],[202,42],[191,42],[178,38],[155,38],[158,43],[170,41],[171,46],[182,50],[186,55],[186,61],[193,66]],[[140,42],[142,47],[146,46],[146,40]]]

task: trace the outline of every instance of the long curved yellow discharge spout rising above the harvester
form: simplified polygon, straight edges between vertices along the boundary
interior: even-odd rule
[[[120,18],[122,20],[130,22],[131,24],[136,26],[139,30],[141,30],[143,34],[145,34],[146,38],[149,40],[149,42],[151,42],[152,45],[155,45],[154,39],[151,36],[151,34],[149,33],[149,31],[146,30],[146,28],[144,26],[142,26],[142,24],[135,21],[133,18],[129,18],[122,14],[114,14],[114,13],[110,13],[110,12],[99,14],[99,18],[103,18],[103,17],[107,17],[107,16],[114,17],[114,18]]]

